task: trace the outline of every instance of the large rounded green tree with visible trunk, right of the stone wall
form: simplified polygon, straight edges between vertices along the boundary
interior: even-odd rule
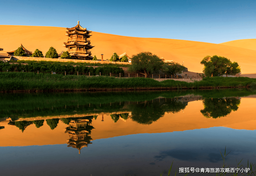
[[[164,61],[151,52],[141,52],[133,55],[131,58],[130,71],[138,71],[144,74],[146,78],[154,71],[159,71],[163,68]]]

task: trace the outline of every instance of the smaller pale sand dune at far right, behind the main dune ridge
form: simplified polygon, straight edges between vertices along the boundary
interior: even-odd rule
[[[250,50],[256,51],[256,39],[242,39],[242,40],[232,40],[224,43],[220,43],[221,45],[227,45],[232,47],[240,47]]]

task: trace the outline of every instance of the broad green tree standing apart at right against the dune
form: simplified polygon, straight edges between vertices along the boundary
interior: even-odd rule
[[[221,76],[228,73],[233,74],[233,72],[237,72],[237,70],[240,69],[238,67],[238,64],[235,69],[232,69],[232,67],[235,67],[236,64],[232,64],[232,62],[229,59],[225,57],[217,56],[217,55],[212,57],[206,56],[200,63],[204,65],[203,72],[205,76],[211,76],[211,77]],[[234,71],[232,72],[231,70],[234,70]]]

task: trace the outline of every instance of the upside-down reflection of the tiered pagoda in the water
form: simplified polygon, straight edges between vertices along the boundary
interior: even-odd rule
[[[70,139],[67,140],[68,147],[77,148],[80,151],[83,147],[87,147],[91,143],[91,126],[93,116],[73,118],[69,122],[69,126],[65,128],[65,133],[69,134]]]

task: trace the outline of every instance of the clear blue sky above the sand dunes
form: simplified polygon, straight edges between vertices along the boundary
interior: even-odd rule
[[[74,27],[79,13],[82,27],[122,36],[210,43],[256,38],[255,0],[1,0],[0,7],[0,25]]]

